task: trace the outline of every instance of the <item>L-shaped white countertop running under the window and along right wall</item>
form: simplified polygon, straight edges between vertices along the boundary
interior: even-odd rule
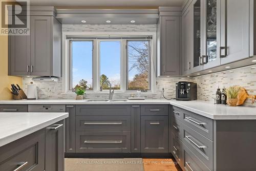
[[[86,101],[86,100],[0,100],[0,104],[172,104],[190,112],[215,120],[255,119],[256,104],[251,106],[236,106],[214,104],[212,101],[177,101],[164,99],[127,100],[127,101]]]

